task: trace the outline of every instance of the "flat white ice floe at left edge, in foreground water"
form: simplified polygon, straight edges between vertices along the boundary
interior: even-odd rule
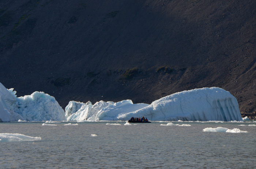
[[[41,137],[31,137],[24,134],[0,133],[0,142],[35,141]]]

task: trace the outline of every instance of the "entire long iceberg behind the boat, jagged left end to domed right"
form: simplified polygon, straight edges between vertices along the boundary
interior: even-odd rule
[[[95,105],[98,108],[95,109]],[[147,117],[153,121],[242,121],[236,98],[218,87],[178,92],[151,105],[133,104],[131,100],[117,103],[69,102],[68,120],[113,121],[131,117]]]

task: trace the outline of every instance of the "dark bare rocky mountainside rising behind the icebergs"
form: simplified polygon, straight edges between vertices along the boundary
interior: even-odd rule
[[[63,108],[215,86],[253,118],[255,47],[255,0],[0,1],[0,82]]]

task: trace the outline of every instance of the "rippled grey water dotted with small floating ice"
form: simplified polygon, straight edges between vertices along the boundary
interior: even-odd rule
[[[0,123],[0,133],[42,138],[0,142],[0,168],[256,168],[256,126],[238,126],[256,124],[252,122],[173,122],[191,126],[81,122],[64,126],[67,123]],[[238,128],[249,133],[203,132],[206,127]]]

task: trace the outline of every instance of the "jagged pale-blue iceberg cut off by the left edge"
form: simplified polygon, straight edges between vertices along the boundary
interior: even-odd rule
[[[44,92],[34,92],[16,97],[16,91],[7,90],[0,83],[0,121],[63,121],[65,112],[54,97]]]

